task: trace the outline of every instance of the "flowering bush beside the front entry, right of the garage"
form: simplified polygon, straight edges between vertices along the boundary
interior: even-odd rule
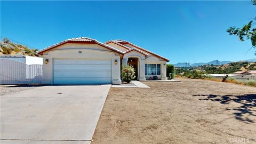
[[[135,78],[134,74],[135,74],[135,70],[131,65],[122,66],[122,72],[121,72],[122,81],[130,83],[131,80]]]

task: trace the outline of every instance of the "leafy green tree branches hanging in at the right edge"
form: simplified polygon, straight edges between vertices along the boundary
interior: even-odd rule
[[[252,4],[256,5],[256,0],[252,0]],[[256,17],[254,18],[254,20],[256,20]],[[256,49],[256,28],[255,28],[255,23],[253,23],[254,20],[251,20],[242,28],[230,27],[229,29],[227,29],[227,32],[229,33],[229,35],[238,36],[239,40],[242,42],[250,39],[252,43],[251,49],[252,48]],[[254,54],[256,55],[256,51],[254,52]]]

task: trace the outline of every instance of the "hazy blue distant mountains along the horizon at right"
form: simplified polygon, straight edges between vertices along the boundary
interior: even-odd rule
[[[256,62],[256,59],[249,59],[249,60],[243,60],[243,61]],[[188,62],[179,62],[177,64],[174,64],[174,67],[198,67],[198,66],[204,66],[204,65],[219,66],[219,65],[226,65],[227,63],[230,63],[230,62],[232,62],[232,61],[213,60],[213,61],[210,61],[210,62],[193,63],[191,65]]]

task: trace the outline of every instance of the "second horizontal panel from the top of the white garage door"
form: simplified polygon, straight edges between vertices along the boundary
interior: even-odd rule
[[[111,65],[59,65],[54,64],[54,71],[111,71]]]

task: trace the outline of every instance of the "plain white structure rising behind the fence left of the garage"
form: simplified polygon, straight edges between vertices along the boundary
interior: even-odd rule
[[[28,55],[0,55],[0,59],[15,60],[26,63],[27,65],[43,65],[43,58]]]

